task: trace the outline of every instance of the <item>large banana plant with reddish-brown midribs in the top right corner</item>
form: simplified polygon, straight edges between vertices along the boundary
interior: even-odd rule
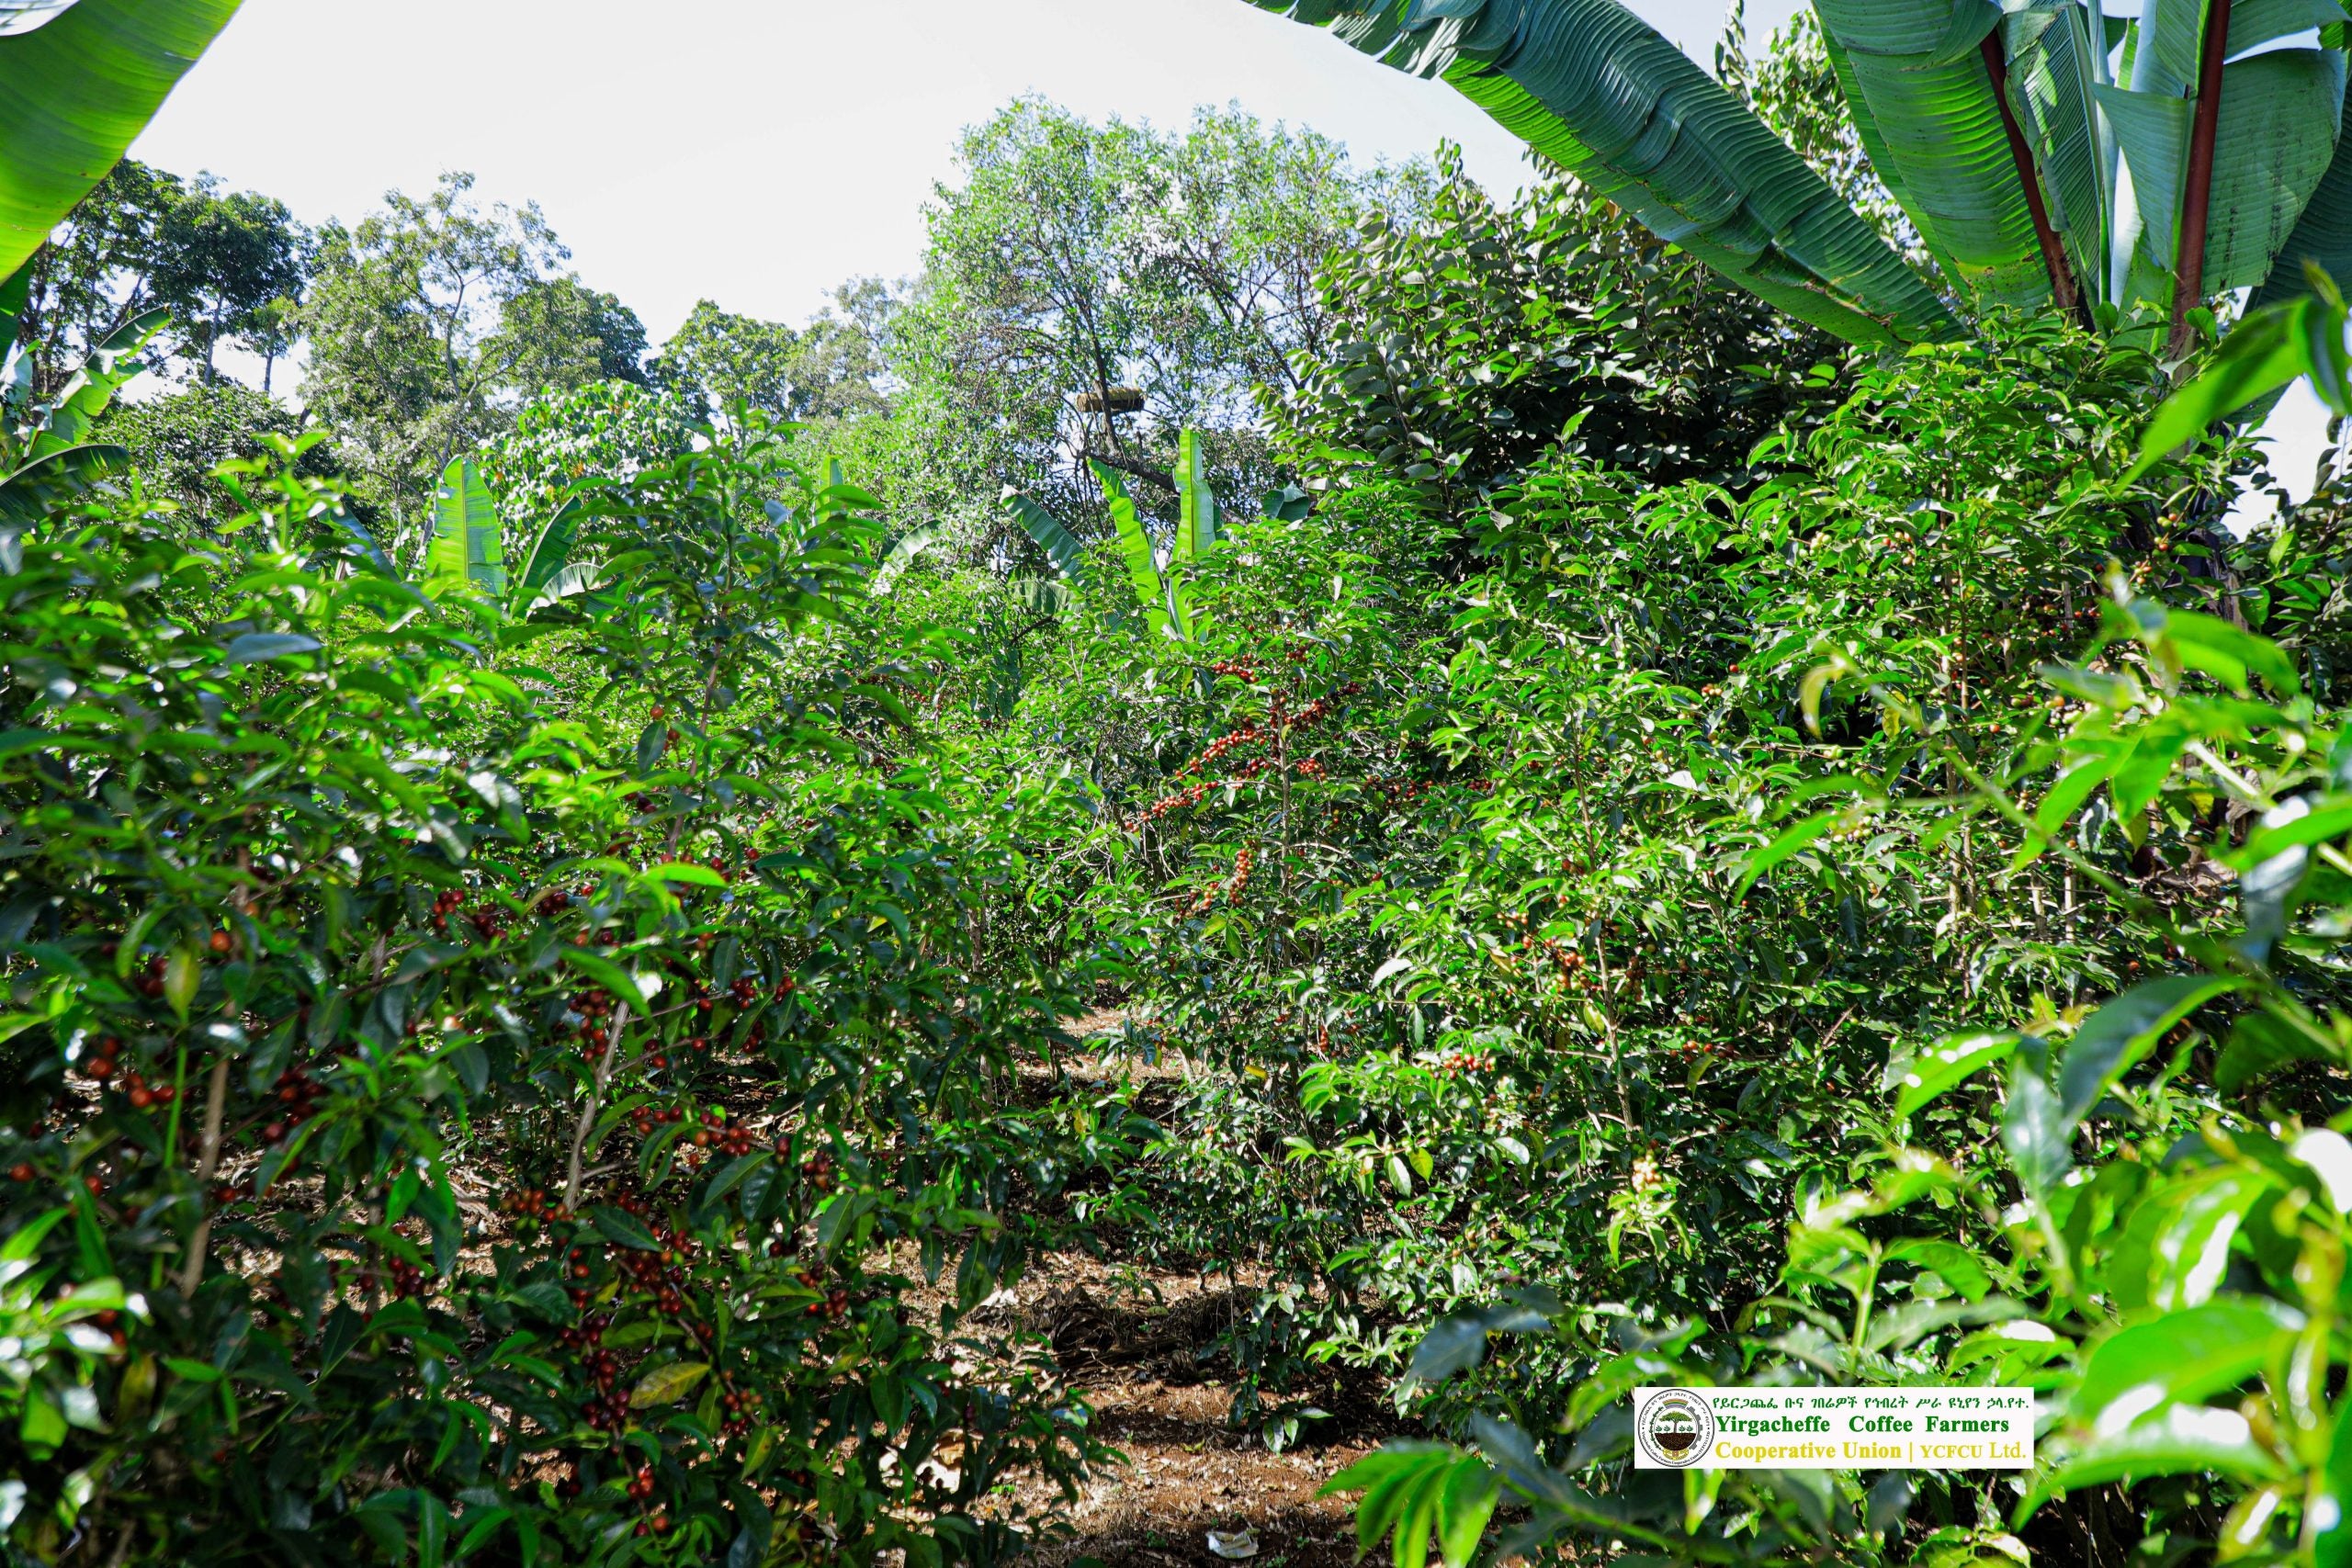
[[[1955,317],[1755,113],[1618,0],[1251,0],[1442,78],[1658,237],[1853,343]],[[2352,275],[2338,0],[1813,0],[1872,167],[1971,310],[2112,322]],[[2310,42],[2317,40],[2317,42]],[[2103,313],[2100,306],[2112,306]]]

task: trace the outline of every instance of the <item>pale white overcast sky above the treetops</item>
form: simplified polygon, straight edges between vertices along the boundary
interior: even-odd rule
[[[1797,2],[1752,0],[1750,33]],[[1717,0],[1632,5],[1712,56]],[[659,343],[696,299],[797,322],[915,270],[957,132],[1023,92],[1164,127],[1237,101],[1359,162],[1451,139],[1489,186],[1522,172],[1454,89],[1244,0],[245,0],[132,153],[310,223],[470,169],[485,200],[541,202]],[[2317,402],[2272,423],[2303,491]]]

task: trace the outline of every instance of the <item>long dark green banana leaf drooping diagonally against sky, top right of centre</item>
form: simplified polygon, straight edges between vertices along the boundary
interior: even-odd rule
[[[1658,237],[1799,320],[1856,343],[1959,331],[1797,153],[1616,0],[1254,5],[1442,78]]]

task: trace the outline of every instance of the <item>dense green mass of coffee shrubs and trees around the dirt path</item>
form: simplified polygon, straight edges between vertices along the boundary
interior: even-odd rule
[[[1816,31],[1710,63],[1905,242]],[[2345,1561],[2338,449],[2232,529],[2145,331],[1237,110],[1018,99],[924,244],[652,343],[468,176],[125,162],[35,259],[14,416],[155,383],[0,557],[12,1554],[1054,1549],[1082,1258],[1430,1432],[1399,1563]],[[1632,1472],[1715,1380],[2044,1465]]]

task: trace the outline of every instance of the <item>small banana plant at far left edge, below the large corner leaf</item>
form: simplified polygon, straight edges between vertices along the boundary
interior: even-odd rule
[[[31,296],[31,266],[0,282],[0,524],[38,522],[92,482],[129,468],[129,454],[87,440],[125,381],[139,374],[139,350],[169,324],[148,310],[94,350],[47,402],[33,400],[33,355],[16,343]]]

